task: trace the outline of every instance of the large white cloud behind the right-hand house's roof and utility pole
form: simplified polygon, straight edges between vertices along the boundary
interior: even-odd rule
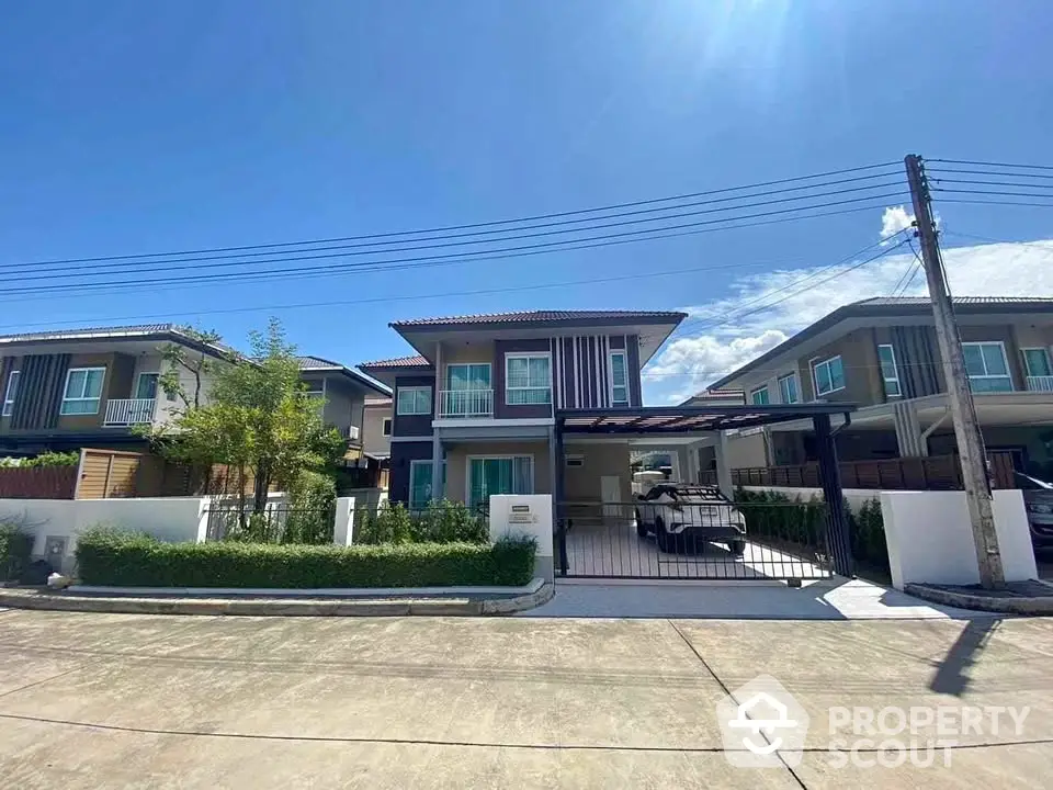
[[[904,251],[852,271],[846,263],[818,274],[780,270],[737,280],[731,295],[684,308],[689,318],[644,374],[646,402],[680,403],[837,307],[892,295],[916,260]],[[943,260],[955,295],[1053,296],[1053,239],[944,248]],[[903,295],[927,293],[918,271]]]

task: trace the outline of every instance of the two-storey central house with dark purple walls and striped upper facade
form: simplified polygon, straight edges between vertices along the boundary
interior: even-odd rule
[[[684,317],[535,311],[392,324],[417,356],[360,365],[395,390],[390,498],[475,508],[494,494],[555,493],[556,413],[638,410],[641,369]],[[566,441],[566,500],[630,498],[629,439]]]

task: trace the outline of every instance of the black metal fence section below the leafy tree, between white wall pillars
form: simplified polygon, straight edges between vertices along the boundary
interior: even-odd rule
[[[295,508],[269,504],[261,512],[251,505],[214,504],[207,514],[206,540],[256,543],[332,543],[336,509]]]

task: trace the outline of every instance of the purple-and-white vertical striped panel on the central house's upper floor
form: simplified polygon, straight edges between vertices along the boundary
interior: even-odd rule
[[[554,338],[553,398],[556,408],[597,409],[611,407],[611,352],[625,351],[630,405],[639,400],[639,354],[636,337],[590,335]]]

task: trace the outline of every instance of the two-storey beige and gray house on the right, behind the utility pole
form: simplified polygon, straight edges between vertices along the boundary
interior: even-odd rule
[[[1018,469],[1053,463],[1053,298],[959,297],[954,313],[987,449],[1010,452]],[[928,298],[840,307],[713,387],[756,405],[857,404],[838,433],[842,461],[956,450]],[[733,467],[815,459],[804,424],[741,431],[728,447]]]

